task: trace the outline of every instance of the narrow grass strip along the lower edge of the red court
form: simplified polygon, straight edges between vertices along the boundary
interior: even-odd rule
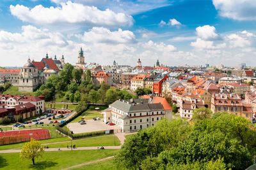
[[[40,143],[44,144],[44,143],[54,143],[54,142],[60,142],[60,141],[68,141],[70,140],[67,137],[62,137],[62,138],[53,138],[53,139],[45,139],[45,140],[41,140]],[[22,143],[14,143],[14,144],[9,144],[9,145],[1,145],[0,146],[0,150],[13,150],[13,149],[21,149],[22,146],[27,143],[27,142],[22,142]]]

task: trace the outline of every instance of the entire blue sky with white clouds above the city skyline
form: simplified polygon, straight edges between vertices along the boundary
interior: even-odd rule
[[[255,0],[1,0],[0,66],[255,66],[255,21]]]

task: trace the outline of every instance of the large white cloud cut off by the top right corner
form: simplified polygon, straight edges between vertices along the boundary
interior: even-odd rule
[[[256,20],[255,0],[212,0],[222,17],[234,20]]]

